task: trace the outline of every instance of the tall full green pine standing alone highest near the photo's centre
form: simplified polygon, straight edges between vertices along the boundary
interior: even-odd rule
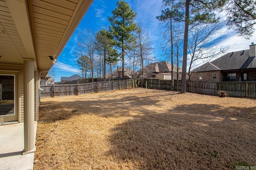
[[[136,12],[124,1],[116,2],[116,8],[112,11],[113,16],[108,17],[110,21],[110,32],[121,50],[122,57],[122,79],[124,79],[124,55],[129,49],[129,44],[134,40],[133,32],[136,30]]]

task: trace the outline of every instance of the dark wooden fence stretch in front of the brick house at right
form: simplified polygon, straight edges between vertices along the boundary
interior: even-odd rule
[[[228,96],[256,97],[256,82],[191,82],[191,92],[218,95],[220,90]]]

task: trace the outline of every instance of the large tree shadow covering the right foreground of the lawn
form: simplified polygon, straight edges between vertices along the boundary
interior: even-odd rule
[[[232,169],[241,161],[255,164],[255,109],[194,104],[135,116],[112,129],[108,154],[137,163],[138,169]]]

